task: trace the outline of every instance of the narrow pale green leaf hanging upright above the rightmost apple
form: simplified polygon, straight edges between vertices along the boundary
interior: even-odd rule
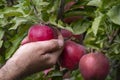
[[[97,31],[98,31],[98,28],[100,26],[100,23],[102,21],[102,18],[103,18],[103,15],[100,14],[98,17],[96,17],[92,23],[92,31],[94,33],[94,35],[96,36],[97,35]]]

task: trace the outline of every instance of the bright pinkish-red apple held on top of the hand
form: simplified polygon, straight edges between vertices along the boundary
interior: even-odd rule
[[[29,29],[28,38],[30,42],[54,39],[54,30],[49,26],[36,24]]]

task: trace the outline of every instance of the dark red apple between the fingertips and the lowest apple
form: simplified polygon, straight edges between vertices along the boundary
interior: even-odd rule
[[[86,53],[85,48],[73,41],[67,40],[60,56],[60,64],[69,70],[78,68],[81,57]]]

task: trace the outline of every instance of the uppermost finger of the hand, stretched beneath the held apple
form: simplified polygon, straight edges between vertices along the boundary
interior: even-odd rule
[[[47,41],[38,41],[38,42],[29,42],[27,44],[22,45],[21,47],[27,47],[27,49],[31,49],[34,51],[42,51],[42,53],[48,53],[55,50],[58,50],[59,43],[57,39],[47,40]]]

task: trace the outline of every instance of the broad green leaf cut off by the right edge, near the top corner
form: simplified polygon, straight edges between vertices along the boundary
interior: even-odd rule
[[[113,6],[107,13],[111,21],[115,24],[120,25],[120,5]]]

